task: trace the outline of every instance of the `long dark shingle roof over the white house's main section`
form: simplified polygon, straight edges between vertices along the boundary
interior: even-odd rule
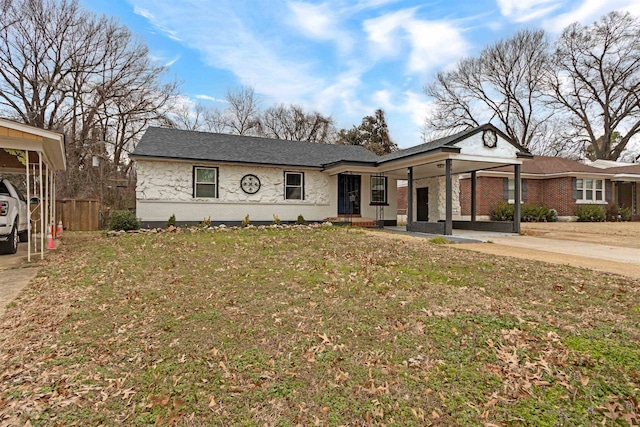
[[[354,145],[319,144],[253,136],[150,127],[133,157],[322,167],[338,161],[373,163],[379,159]]]

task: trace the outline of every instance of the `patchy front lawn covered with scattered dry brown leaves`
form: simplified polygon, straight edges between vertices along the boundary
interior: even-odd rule
[[[0,425],[629,426],[638,283],[349,228],[67,233]]]

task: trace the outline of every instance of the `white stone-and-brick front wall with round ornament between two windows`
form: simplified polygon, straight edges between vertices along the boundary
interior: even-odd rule
[[[283,221],[298,215],[320,220],[332,215],[331,181],[335,178],[320,171],[304,172],[304,200],[284,199],[284,170],[275,167],[195,165],[218,168],[218,198],[193,197],[193,167],[187,162],[140,161],[137,165],[137,215],[143,222],[167,221],[172,214],[178,221],[240,221],[250,215],[252,221],[271,221],[276,214]],[[260,179],[260,190],[247,194],[240,188],[246,174]]]

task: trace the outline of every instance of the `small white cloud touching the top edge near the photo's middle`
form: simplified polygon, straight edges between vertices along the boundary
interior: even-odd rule
[[[352,37],[339,26],[340,17],[329,4],[290,2],[293,25],[307,37],[322,41],[333,41],[342,54],[353,47]]]

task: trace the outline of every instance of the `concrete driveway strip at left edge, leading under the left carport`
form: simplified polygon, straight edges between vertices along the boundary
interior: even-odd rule
[[[32,262],[27,264],[27,243],[20,243],[18,252],[13,255],[0,255],[0,317],[7,304],[36,277],[40,267],[34,260],[39,259],[39,255],[31,254]]]

